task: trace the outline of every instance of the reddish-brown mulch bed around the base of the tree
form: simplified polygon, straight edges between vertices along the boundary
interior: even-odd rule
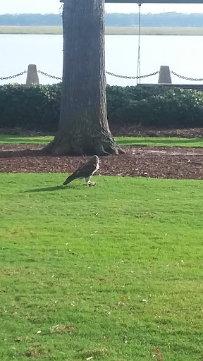
[[[49,157],[42,145],[0,145],[1,173],[75,171],[86,157]],[[36,149],[36,152],[29,149]],[[125,154],[100,157],[98,174],[152,178],[203,179],[203,149],[189,147],[123,147]]]

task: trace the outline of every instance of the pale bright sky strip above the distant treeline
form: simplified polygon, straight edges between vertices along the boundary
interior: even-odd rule
[[[0,14],[59,13],[59,0],[0,0]],[[142,13],[203,13],[203,4],[142,4]],[[137,13],[137,4],[105,4],[107,13]]]

